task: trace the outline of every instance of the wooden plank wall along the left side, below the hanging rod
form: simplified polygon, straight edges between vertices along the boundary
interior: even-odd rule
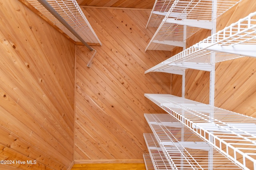
[[[0,0],[0,27],[0,169],[67,169],[75,45],[18,0]]]

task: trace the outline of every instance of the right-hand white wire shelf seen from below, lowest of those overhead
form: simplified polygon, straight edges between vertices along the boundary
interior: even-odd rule
[[[213,54],[215,57],[212,57]],[[256,12],[146,70],[170,72],[176,67],[211,71],[211,64],[256,57]],[[175,67],[174,67],[175,66]]]

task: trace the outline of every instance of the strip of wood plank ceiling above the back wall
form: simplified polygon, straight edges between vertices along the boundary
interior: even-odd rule
[[[80,6],[152,9],[155,0],[77,0]]]

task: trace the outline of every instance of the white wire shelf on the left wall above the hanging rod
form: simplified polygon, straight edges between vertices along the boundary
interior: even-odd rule
[[[80,42],[60,21],[58,21],[57,18],[44,8],[40,2],[37,0],[27,1],[54,25],[66,33],[71,39],[76,42]],[[58,14],[60,14],[60,16],[62,16],[62,18],[76,31],[76,33],[84,39],[85,42],[98,43],[102,45],[76,0],[47,0],[47,2],[54,8],[54,10],[56,10],[56,12],[58,12]]]

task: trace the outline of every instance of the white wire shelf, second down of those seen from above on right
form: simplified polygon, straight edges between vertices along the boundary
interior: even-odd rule
[[[231,160],[226,158],[218,150],[203,141],[191,130],[184,127],[176,120],[162,123],[160,119],[169,114],[145,114],[155,140],[158,141],[164,154],[174,164],[174,170],[218,170],[218,169],[240,169]],[[209,151],[213,150],[209,155]]]

